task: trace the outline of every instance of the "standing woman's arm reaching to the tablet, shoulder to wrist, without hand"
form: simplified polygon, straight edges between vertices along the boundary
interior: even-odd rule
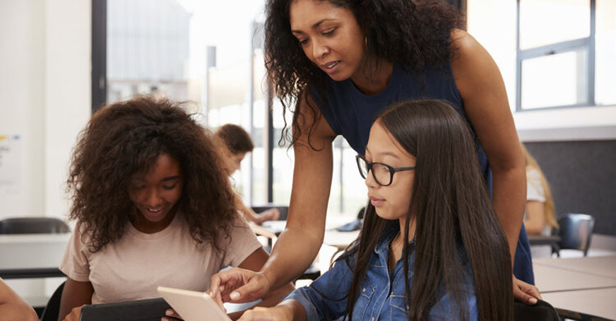
[[[306,111],[306,101],[302,99],[301,103],[302,110]],[[310,113],[304,115],[305,124],[311,124]],[[302,274],[323,243],[333,168],[331,142],[336,134],[321,117],[310,136],[315,151],[308,144],[308,130],[308,125],[302,127],[302,136],[293,146],[295,167],[287,226],[261,269],[273,288]]]

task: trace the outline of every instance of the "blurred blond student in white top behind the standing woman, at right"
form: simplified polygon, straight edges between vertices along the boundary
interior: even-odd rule
[[[521,145],[526,163],[526,214],[524,216],[526,233],[528,235],[552,235],[552,229],[558,228],[558,223],[550,185],[535,158],[528,153],[524,144]],[[531,246],[533,258],[550,257],[551,254],[552,250],[549,245]]]

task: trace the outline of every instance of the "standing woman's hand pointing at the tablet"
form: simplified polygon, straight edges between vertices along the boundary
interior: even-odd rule
[[[271,286],[271,281],[261,272],[236,267],[212,276],[210,296],[223,308],[224,302],[259,300],[270,291]]]

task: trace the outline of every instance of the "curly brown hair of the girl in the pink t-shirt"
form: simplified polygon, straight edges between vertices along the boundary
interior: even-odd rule
[[[91,251],[122,238],[136,215],[127,191],[131,177],[150,170],[162,154],[176,159],[184,173],[176,206],[192,238],[220,251],[219,240],[230,237],[236,211],[220,170],[220,143],[185,105],[139,96],[103,107],[80,133],[67,180],[73,201],[69,218],[90,235]]]

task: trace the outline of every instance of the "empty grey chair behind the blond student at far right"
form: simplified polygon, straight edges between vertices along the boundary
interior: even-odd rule
[[[560,250],[571,249],[581,250],[584,252],[584,256],[588,255],[595,218],[587,214],[567,213],[559,216],[558,225],[560,241],[558,248],[552,248],[552,252],[556,252],[557,256],[560,257]]]

